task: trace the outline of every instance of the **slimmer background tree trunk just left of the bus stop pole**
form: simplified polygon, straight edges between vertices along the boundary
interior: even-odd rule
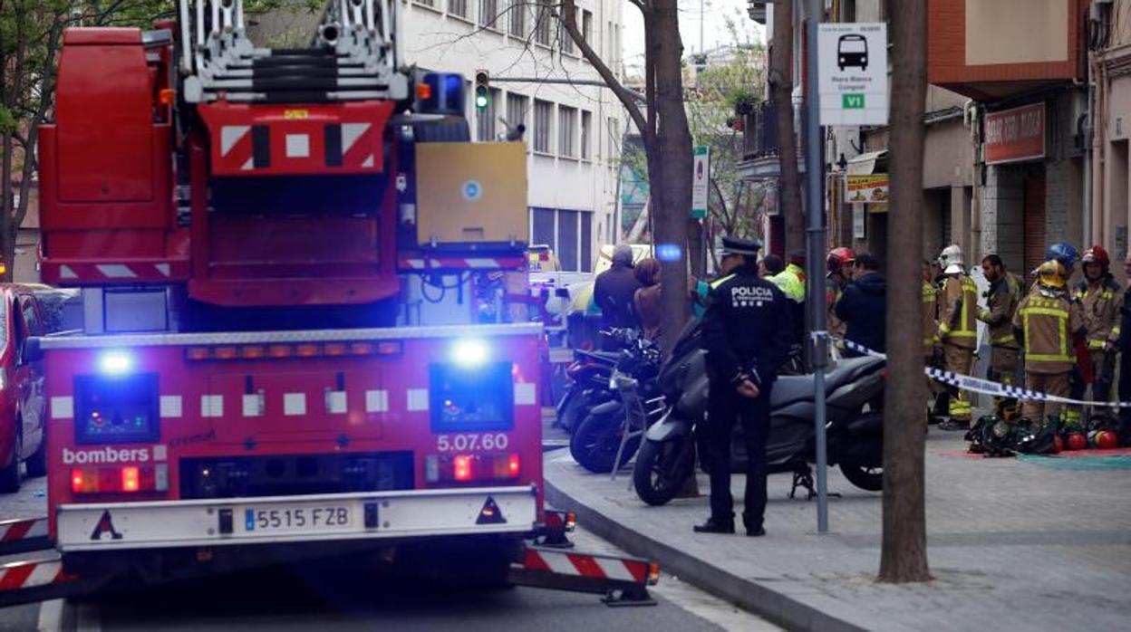
[[[797,139],[793,133],[793,0],[774,2],[770,98],[777,119],[778,157],[782,163],[780,213],[785,218],[785,252],[788,253],[805,248]]]

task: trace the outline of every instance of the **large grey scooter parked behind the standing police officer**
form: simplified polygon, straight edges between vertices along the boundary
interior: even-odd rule
[[[708,375],[698,321],[680,336],[657,386],[667,409],[645,434],[632,470],[637,495],[651,505],[672,500],[694,473],[696,425],[707,418]],[[886,361],[858,357],[840,361],[824,375],[828,465],[839,466],[853,485],[870,492],[882,488],[883,414],[865,407],[882,400]],[[770,432],[766,445],[769,474],[792,473],[794,488],[813,495],[811,464],[815,462],[812,374],[782,375],[770,396]],[[732,471],[745,470],[745,443],[736,425],[731,449]]]

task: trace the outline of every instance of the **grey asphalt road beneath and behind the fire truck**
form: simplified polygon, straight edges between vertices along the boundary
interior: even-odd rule
[[[42,514],[42,479],[29,481],[18,494],[0,496],[0,519]],[[616,552],[580,530],[573,539],[578,551]],[[594,595],[406,583],[346,561],[318,570],[274,569],[123,596],[15,606],[0,609],[0,631],[777,630],[672,577],[662,578],[653,596],[656,606],[612,608]]]

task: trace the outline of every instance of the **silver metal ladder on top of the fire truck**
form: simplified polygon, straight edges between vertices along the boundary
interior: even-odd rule
[[[396,0],[335,0],[310,49],[248,38],[243,0],[179,0],[184,99],[334,103],[408,96],[397,70]]]

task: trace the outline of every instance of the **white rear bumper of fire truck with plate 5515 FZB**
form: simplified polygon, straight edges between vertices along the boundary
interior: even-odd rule
[[[63,553],[183,546],[526,535],[537,490],[474,487],[129,503],[63,504]]]

